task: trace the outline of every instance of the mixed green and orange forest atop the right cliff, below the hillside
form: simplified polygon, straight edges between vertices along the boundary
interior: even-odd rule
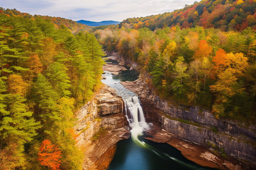
[[[137,62],[141,73],[149,75],[148,86],[163,99],[251,124],[256,116],[254,28],[181,29],[177,24],[152,31],[150,25],[138,29],[122,25],[94,33],[107,52]]]

